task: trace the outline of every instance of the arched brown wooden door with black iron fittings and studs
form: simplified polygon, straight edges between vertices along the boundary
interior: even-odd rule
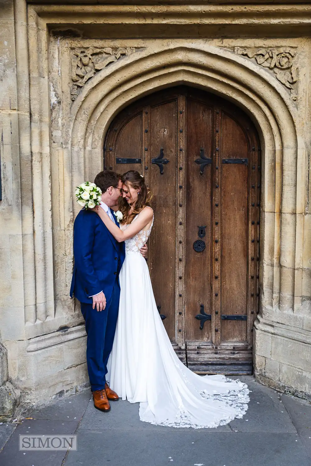
[[[115,118],[104,167],[143,173],[154,194],[148,265],[180,359],[202,373],[251,373],[260,146],[249,117],[218,96],[166,89]]]

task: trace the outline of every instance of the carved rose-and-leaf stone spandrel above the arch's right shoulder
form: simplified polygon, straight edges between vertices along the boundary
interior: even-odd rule
[[[255,58],[258,65],[273,70],[276,79],[290,90],[292,100],[297,100],[295,83],[298,81],[297,66],[294,57],[297,50],[289,47],[279,48],[242,48],[235,47],[236,55],[246,55]]]

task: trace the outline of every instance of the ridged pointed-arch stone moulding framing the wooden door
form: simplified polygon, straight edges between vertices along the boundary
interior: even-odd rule
[[[295,272],[300,241],[292,117],[296,106],[273,76],[246,58],[193,44],[156,52],[146,48],[117,62],[111,71],[98,72],[71,107],[72,192],[81,180],[103,169],[104,136],[113,117],[138,98],[180,84],[231,100],[255,123],[262,147],[260,311],[264,316],[266,311],[294,309],[294,303],[301,303],[301,274],[297,267]],[[74,215],[78,210],[74,203]]]

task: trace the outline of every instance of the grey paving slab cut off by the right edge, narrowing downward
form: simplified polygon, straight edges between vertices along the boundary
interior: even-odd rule
[[[283,405],[290,414],[309,457],[311,458],[311,403],[288,395],[283,395],[281,399]]]

